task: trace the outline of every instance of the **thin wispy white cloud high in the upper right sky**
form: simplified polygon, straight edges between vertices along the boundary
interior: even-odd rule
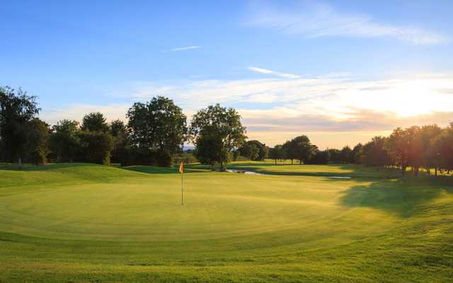
[[[291,9],[260,3],[252,5],[248,24],[306,37],[391,37],[415,45],[433,45],[449,38],[413,26],[379,23],[369,15],[345,13],[327,4],[306,4]]]

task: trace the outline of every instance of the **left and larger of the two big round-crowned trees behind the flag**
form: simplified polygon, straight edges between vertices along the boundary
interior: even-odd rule
[[[134,103],[127,111],[127,130],[134,148],[156,158],[171,158],[182,151],[187,134],[186,117],[173,100],[157,96],[147,103]],[[171,163],[171,160],[158,163]]]

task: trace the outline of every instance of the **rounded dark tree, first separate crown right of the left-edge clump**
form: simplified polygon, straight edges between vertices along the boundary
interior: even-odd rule
[[[62,120],[52,127],[50,149],[57,161],[72,162],[80,160],[81,144],[79,122]]]

